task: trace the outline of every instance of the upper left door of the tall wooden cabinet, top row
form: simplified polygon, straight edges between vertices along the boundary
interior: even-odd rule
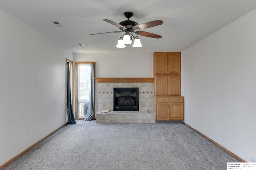
[[[155,53],[155,73],[156,74],[167,74],[167,53]]]

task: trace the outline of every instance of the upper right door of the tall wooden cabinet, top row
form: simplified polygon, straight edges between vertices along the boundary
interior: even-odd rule
[[[180,53],[168,54],[168,74],[180,74]]]

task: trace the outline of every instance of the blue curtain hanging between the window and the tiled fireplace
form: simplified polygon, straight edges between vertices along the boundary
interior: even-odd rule
[[[89,94],[89,104],[84,121],[90,121],[93,118],[94,111],[94,64],[91,64],[91,85]]]

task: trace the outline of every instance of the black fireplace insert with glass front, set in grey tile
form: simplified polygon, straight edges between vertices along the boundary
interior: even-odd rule
[[[113,111],[139,111],[139,88],[113,88]]]

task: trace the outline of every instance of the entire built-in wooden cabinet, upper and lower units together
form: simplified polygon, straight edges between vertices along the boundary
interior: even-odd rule
[[[180,96],[180,52],[155,52],[153,65],[156,120],[182,121],[184,97]]]

